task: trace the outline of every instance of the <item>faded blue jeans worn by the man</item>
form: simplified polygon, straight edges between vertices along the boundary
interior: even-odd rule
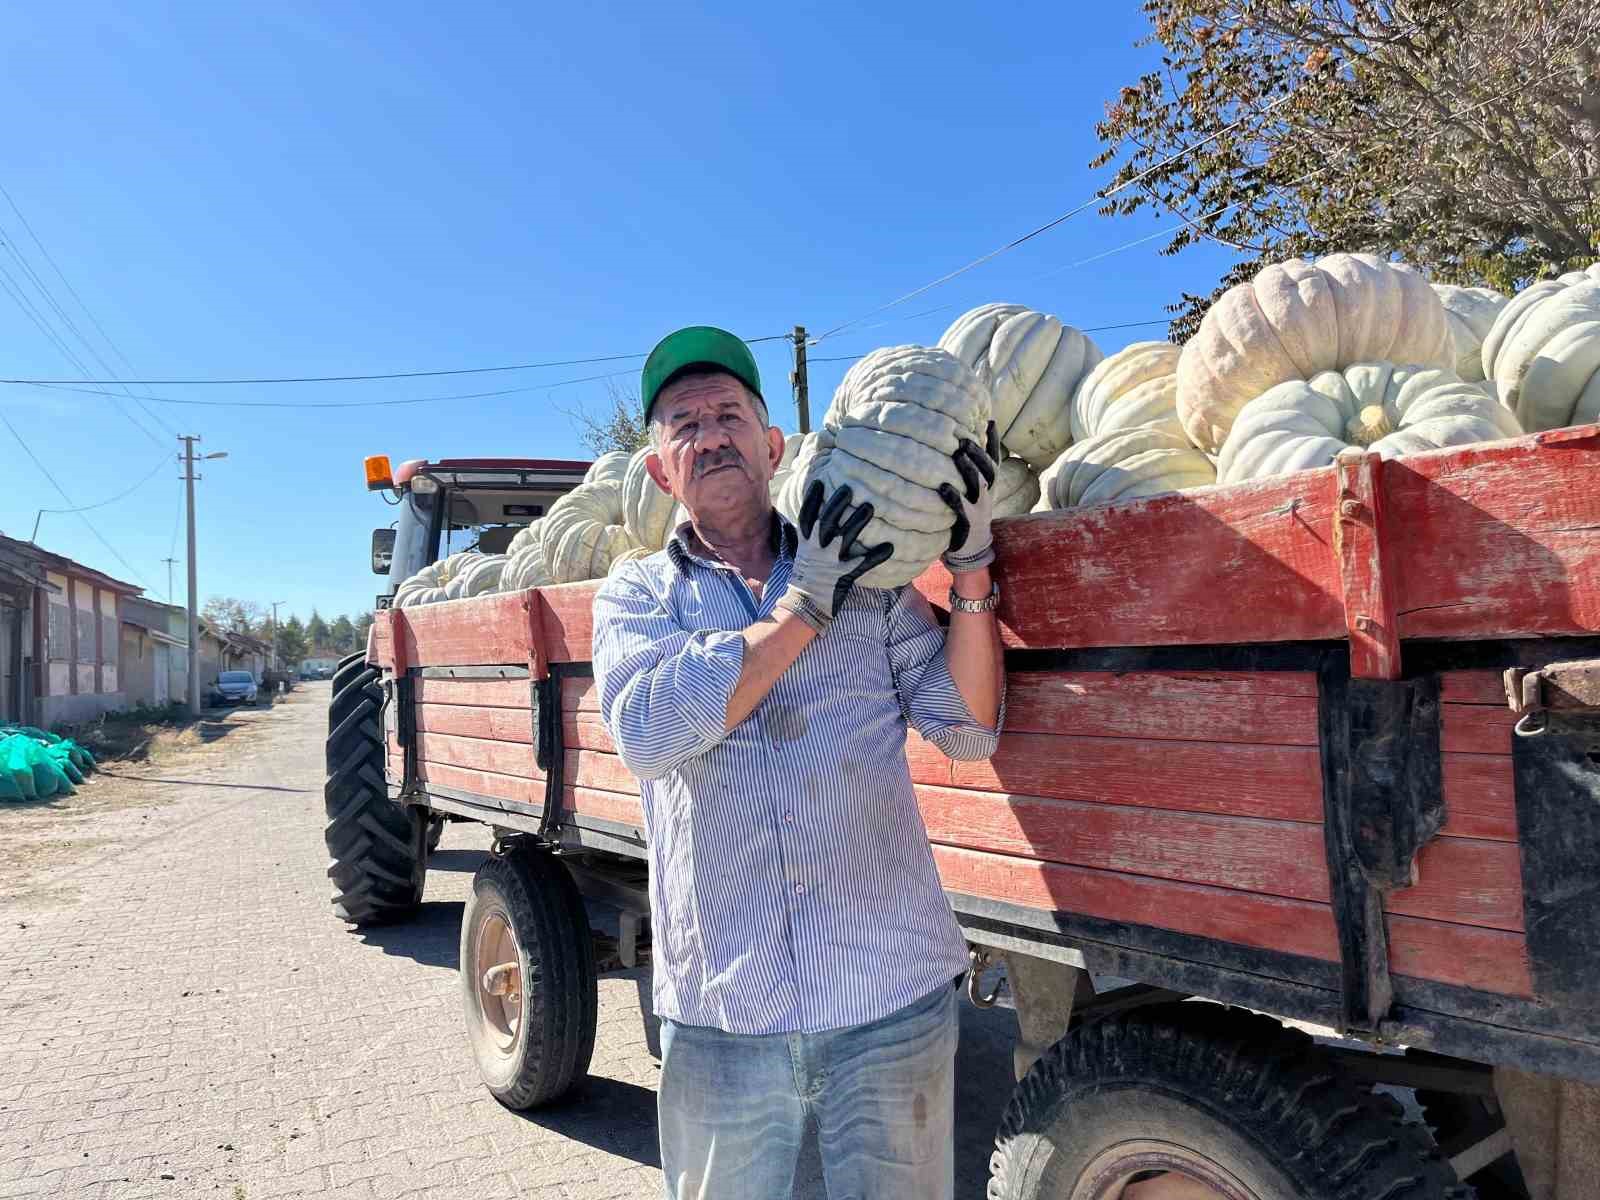
[[[955,986],[822,1034],[661,1022],[669,1200],[778,1200],[816,1120],[829,1200],[949,1200],[955,1187]]]

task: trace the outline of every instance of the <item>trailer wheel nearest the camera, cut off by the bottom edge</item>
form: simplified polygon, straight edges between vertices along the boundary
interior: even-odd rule
[[[1107,1018],[1051,1046],[1011,1096],[989,1166],[990,1200],[1472,1195],[1421,1128],[1309,1037],[1205,1003]]]

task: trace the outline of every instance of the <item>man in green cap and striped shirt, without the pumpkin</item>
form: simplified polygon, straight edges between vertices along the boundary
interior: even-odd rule
[[[642,781],[661,1165],[669,1197],[789,1195],[818,1126],[832,1197],[949,1197],[955,979],[966,949],[906,765],[910,725],[994,752],[1003,672],[990,450],[963,442],[949,637],[891,546],[813,485],[768,499],[782,434],[749,347],[693,326],[645,362],[651,477],[690,520],[594,602],[606,728]]]

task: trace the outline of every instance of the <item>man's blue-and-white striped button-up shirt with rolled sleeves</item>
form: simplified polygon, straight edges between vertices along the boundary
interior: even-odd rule
[[[853,589],[725,731],[741,630],[789,586],[797,534],[779,531],[760,602],[688,525],[594,600],[602,715],[643,795],[656,1013],[731,1034],[864,1024],[965,970],[906,728],[952,758],[987,758],[998,736],[962,701],[914,587]]]

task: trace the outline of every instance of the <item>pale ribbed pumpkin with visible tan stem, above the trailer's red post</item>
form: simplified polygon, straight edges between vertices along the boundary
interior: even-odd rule
[[[1454,371],[1357,363],[1291,379],[1245,405],[1222,445],[1218,480],[1325,467],[1352,445],[1387,459],[1520,432],[1494,397]]]

